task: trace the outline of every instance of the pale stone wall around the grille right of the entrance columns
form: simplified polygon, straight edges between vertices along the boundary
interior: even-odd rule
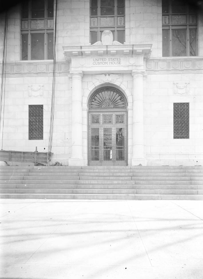
[[[203,73],[150,73],[144,89],[144,137],[149,165],[202,165]],[[188,82],[175,93],[174,82]],[[189,102],[189,139],[173,139],[173,103]]]

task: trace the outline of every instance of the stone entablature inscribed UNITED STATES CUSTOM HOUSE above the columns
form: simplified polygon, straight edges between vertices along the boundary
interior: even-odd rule
[[[145,70],[146,59],[151,53],[152,44],[118,44],[64,46],[66,60],[70,61],[70,71],[86,74],[131,73],[132,70]]]

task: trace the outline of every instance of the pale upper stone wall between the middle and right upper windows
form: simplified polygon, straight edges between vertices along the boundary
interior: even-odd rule
[[[152,43],[151,57],[162,56],[161,0],[126,1],[126,43]]]

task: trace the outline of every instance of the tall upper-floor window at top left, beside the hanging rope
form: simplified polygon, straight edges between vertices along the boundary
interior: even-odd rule
[[[24,1],[21,10],[21,59],[53,59],[54,0]]]

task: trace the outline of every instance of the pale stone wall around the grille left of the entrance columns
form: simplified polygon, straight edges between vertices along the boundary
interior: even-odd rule
[[[52,82],[53,77],[50,73],[9,75],[6,78],[3,149],[34,151],[37,146],[38,151],[48,151]],[[39,84],[43,85],[43,94],[40,95],[36,91],[34,94],[38,94],[37,96],[30,95],[29,85],[33,85],[36,89]],[[43,104],[43,140],[29,140],[29,104]],[[1,139],[2,131],[1,129]],[[68,74],[63,73],[56,73],[52,152],[54,152],[54,161],[68,162],[70,156],[70,88]],[[62,157],[60,157],[61,154],[63,154]]]

